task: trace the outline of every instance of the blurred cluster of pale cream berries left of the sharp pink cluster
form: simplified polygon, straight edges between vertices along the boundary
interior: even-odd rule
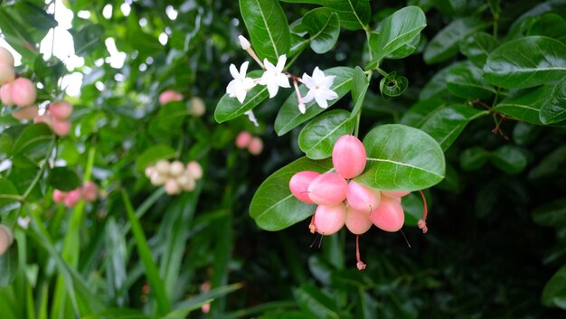
[[[165,184],[165,192],[176,195],[194,190],[196,181],[203,178],[203,167],[196,161],[185,165],[181,161],[159,160],[155,165],[146,167],[146,177],[155,186]]]

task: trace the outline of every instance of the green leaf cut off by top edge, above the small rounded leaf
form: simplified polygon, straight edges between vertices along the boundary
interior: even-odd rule
[[[323,0],[323,3],[338,14],[340,25],[346,30],[362,30],[370,22],[369,0]]]

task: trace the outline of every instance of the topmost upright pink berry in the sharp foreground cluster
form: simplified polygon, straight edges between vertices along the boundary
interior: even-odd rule
[[[344,178],[362,174],[367,155],[362,142],[355,136],[340,136],[332,149],[332,164]]]

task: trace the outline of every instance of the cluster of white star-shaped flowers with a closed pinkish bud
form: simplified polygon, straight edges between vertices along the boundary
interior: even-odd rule
[[[234,64],[231,64],[230,73],[234,80],[231,80],[231,82],[228,83],[228,87],[226,87],[226,93],[228,93],[229,97],[236,98],[240,103],[243,103],[250,89],[253,89],[259,84],[267,86],[269,99],[271,99],[277,95],[279,88],[291,87],[289,84],[289,78],[291,78],[293,79],[293,85],[297,93],[298,109],[303,114],[307,111],[305,103],[313,99],[315,99],[316,104],[318,104],[320,108],[328,108],[327,101],[338,98],[338,94],[330,89],[335,80],[334,75],[325,76],[325,72],[316,67],[312,77],[307,73],[303,73],[302,78],[295,77],[283,70],[287,62],[287,56],[285,54],[279,56],[277,64],[273,65],[268,59],[264,59],[263,62],[261,62],[253,49],[251,49],[250,42],[241,35],[240,43],[241,48],[250,53],[250,56],[257,61],[265,71],[260,78],[252,79],[246,76],[250,64],[248,61],[241,64],[240,71],[238,71]],[[297,81],[304,83],[307,87],[308,92],[305,97],[301,96],[297,87]]]

